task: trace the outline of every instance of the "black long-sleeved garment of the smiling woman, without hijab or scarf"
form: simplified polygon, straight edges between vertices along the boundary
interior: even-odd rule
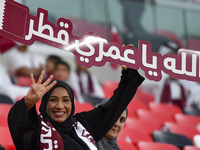
[[[123,70],[118,88],[109,102],[91,111],[75,114],[73,117],[98,142],[118,120],[143,80],[144,78],[139,75],[137,70],[130,68]],[[28,112],[24,99],[16,102],[9,112],[8,125],[17,150],[39,149],[41,119],[37,115],[35,107]],[[82,147],[81,150],[87,149],[76,141],[67,146],[67,149],[80,150],[80,147]]]

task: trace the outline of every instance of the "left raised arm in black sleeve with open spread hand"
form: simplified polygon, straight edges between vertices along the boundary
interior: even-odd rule
[[[22,100],[13,105],[8,114],[10,133],[17,149],[24,149],[22,147],[25,146],[25,141],[29,143],[31,142],[30,139],[36,138],[36,133],[40,128],[40,119],[37,115],[35,104],[56,83],[53,82],[48,85],[52,79],[51,76],[47,81],[41,84],[43,75],[44,71],[41,73],[37,83],[35,83],[33,74],[31,74],[32,84],[30,90]]]

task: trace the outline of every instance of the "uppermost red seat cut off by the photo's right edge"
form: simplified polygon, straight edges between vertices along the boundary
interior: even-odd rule
[[[191,115],[186,115],[186,114],[176,114],[174,116],[174,118],[177,123],[191,126],[193,128],[196,128],[197,130],[200,129],[200,117],[198,117],[198,116],[191,116]]]

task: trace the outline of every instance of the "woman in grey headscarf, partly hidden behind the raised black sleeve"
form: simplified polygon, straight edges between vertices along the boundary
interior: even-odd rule
[[[106,100],[102,102],[105,103],[108,101]],[[97,142],[98,150],[121,150],[117,143],[117,137],[125,125],[127,116],[128,109],[126,108],[110,131],[108,131],[108,133],[106,133],[106,135],[99,142]]]

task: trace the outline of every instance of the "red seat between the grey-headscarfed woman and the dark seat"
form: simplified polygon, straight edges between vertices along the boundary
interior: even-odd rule
[[[136,144],[139,141],[153,141],[153,138],[147,134],[145,131],[140,129],[128,129],[123,128],[118,135],[119,140],[124,140],[126,142]]]

